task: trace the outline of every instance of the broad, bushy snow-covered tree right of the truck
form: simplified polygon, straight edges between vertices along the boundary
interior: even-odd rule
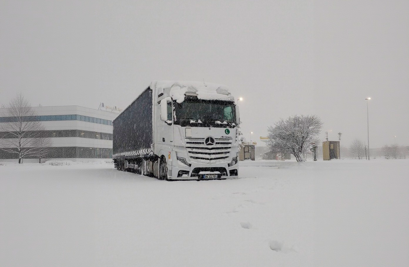
[[[267,145],[274,153],[292,154],[298,162],[317,143],[322,128],[321,119],[317,115],[294,115],[286,120],[280,119],[267,128],[269,142]]]

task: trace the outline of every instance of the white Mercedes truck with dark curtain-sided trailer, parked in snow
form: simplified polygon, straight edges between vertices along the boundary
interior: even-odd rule
[[[164,180],[237,177],[239,121],[227,86],[154,81],[113,121],[112,158]]]

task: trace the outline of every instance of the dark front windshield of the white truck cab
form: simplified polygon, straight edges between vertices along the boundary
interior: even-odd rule
[[[175,124],[194,127],[236,127],[234,103],[185,99],[175,102]]]

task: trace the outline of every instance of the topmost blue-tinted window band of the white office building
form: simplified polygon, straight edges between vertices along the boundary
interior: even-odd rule
[[[42,115],[42,116],[25,116],[23,117],[24,121],[54,121],[54,120],[81,120],[83,122],[92,122],[99,124],[106,124],[112,126],[112,120],[104,120],[100,118],[94,118],[84,115]],[[16,122],[18,118],[16,117],[0,117],[0,122]]]

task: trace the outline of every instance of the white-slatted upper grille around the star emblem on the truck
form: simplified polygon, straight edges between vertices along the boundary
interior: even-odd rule
[[[216,160],[228,158],[231,139],[214,138],[214,145],[205,145],[205,138],[187,138],[186,148],[189,158],[201,163],[216,163]]]

